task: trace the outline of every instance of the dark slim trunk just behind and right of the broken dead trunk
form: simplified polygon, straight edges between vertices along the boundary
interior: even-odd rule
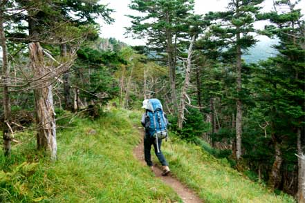
[[[60,46],[60,54],[62,55],[62,57],[65,59],[66,58],[66,52],[67,52],[67,48],[66,48],[66,44],[62,44]],[[64,81],[64,109],[65,110],[72,110],[72,95],[71,95],[71,86],[70,86],[70,75],[68,70],[66,70],[63,73],[63,77],[62,77],[63,81]]]

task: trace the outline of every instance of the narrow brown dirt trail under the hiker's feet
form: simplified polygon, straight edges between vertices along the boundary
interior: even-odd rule
[[[139,130],[140,131],[140,130]],[[142,131],[141,131],[142,132]],[[145,160],[144,160],[144,145],[143,140],[142,142],[136,146],[136,148],[133,149],[133,155],[142,162],[143,165],[146,166]],[[160,178],[165,184],[169,185],[176,191],[176,193],[181,197],[181,200],[185,203],[200,203],[203,202],[200,200],[193,191],[188,189],[186,186],[181,184],[176,178],[172,177],[172,175],[163,176],[161,175],[162,171],[160,168],[154,166],[154,173],[157,178]]]

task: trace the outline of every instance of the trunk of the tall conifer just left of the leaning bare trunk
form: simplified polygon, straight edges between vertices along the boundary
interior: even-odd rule
[[[166,13],[166,22],[169,23],[169,14]],[[171,93],[172,93],[172,103],[174,104],[174,113],[178,110],[178,99],[176,95],[176,66],[174,63],[174,48],[172,45],[172,31],[167,28],[166,29],[166,38],[167,38],[167,63],[169,68],[169,84],[171,86]]]

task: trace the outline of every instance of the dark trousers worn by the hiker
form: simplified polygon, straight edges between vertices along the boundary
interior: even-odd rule
[[[165,157],[161,151],[161,144],[162,144],[162,139],[158,139],[158,146],[159,146],[159,153],[157,150],[157,145],[156,145],[156,139],[151,138],[148,134],[145,133],[144,137],[144,157],[145,157],[145,162],[147,163],[148,166],[152,166],[153,163],[151,162],[151,145],[154,145],[155,153],[156,156],[158,157],[158,160],[162,164],[162,166],[168,166],[167,161],[165,160]]]

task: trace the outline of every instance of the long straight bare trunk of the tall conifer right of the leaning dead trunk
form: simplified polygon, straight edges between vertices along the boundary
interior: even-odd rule
[[[241,158],[241,134],[242,134],[242,102],[240,99],[241,93],[241,46],[239,40],[241,39],[240,33],[237,33],[237,101],[236,101],[236,158],[237,161]]]

